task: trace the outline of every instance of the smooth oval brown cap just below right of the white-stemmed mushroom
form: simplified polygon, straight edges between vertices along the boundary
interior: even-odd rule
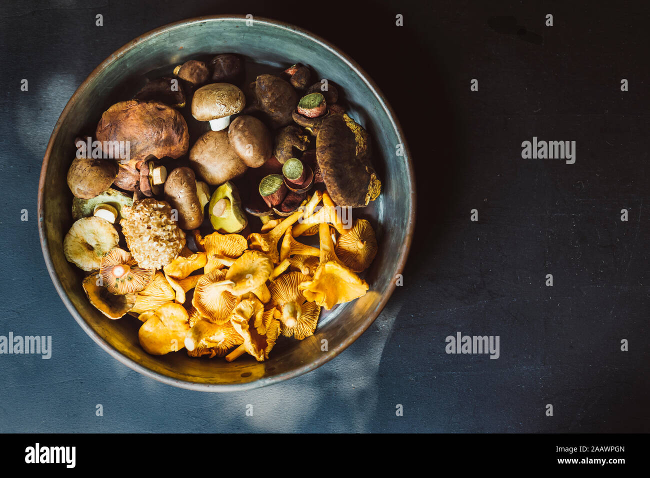
[[[255,116],[237,116],[228,127],[228,140],[250,168],[259,168],[273,155],[271,133]]]

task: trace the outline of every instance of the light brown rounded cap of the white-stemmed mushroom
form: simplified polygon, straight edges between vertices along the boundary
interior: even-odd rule
[[[244,92],[230,83],[211,83],[201,86],[192,97],[192,116],[199,121],[210,121],[237,114],[246,105]]]

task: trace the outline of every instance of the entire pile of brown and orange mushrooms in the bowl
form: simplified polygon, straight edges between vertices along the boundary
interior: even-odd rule
[[[381,191],[367,131],[308,66],[245,77],[239,55],[188,60],[75,139],[64,254],[149,354],[263,361],[369,290],[374,230],[344,220]]]

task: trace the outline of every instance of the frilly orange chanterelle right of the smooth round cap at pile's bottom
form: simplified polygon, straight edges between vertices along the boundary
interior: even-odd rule
[[[205,319],[196,322],[185,336],[187,354],[192,357],[209,355],[223,357],[229,349],[244,343],[231,322],[216,325]]]

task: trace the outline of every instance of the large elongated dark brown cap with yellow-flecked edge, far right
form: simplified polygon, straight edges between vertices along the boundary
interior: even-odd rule
[[[328,115],[318,129],[316,157],[323,181],[339,206],[363,207],[378,196],[381,183],[357,155],[354,133],[339,114]]]

